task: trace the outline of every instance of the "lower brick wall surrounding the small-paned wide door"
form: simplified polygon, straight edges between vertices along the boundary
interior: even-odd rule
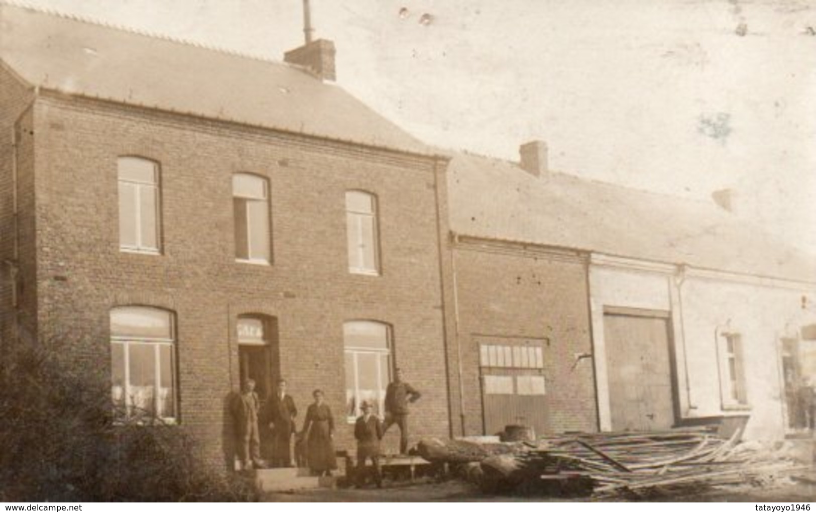
[[[479,341],[541,340],[552,431],[597,430],[586,266],[577,255],[519,244],[469,239],[455,244],[458,343],[450,342],[455,433],[486,433],[482,424]],[[453,305],[449,310],[454,311]],[[461,354],[463,408],[457,354]]]

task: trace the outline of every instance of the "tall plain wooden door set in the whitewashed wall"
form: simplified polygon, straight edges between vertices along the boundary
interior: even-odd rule
[[[667,318],[604,315],[613,430],[672,427],[674,393]]]

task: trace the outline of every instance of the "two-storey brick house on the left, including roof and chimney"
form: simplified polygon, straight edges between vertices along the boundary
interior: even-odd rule
[[[225,403],[326,392],[338,448],[392,368],[449,433],[446,158],[287,64],[0,3],[0,323],[229,464]],[[396,429],[388,443],[397,439]]]

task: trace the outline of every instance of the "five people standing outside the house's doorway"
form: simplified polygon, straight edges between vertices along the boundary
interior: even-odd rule
[[[265,468],[260,454],[260,432],[262,425],[272,431],[271,462],[274,467],[292,467],[291,439],[298,439],[295,453],[299,465],[308,466],[313,475],[330,475],[337,469],[335,460],[335,420],[331,409],[324,402],[322,390],[314,390],[314,402],[308,406],[303,428],[298,433],[295,416],[298,414],[295,400],[286,393],[286,381],[277,381],[276,392],[264,404],[265,414],[261,414],[261,404],[255,393],[255,381],[242,382],[241,393],[233,400],[231,412],[235,425],[237,456],[242,469]],[[410,384],[402,381],[402,372],[397,368],[394,380],[388,384],[385,394],[384,421],[376,416],[374,404],[362,402],[361,416],[354,425],[354,439],[357,440],[357,485],[364,483],[366,460],[371,461],[374,480],[382,485],[379,469],[380,439],[388,429],[396,424],[400,429],[400,452],[408,450],[408,404],[414,403],[421,394]],[[305,453],[304,453],[305,452]]]

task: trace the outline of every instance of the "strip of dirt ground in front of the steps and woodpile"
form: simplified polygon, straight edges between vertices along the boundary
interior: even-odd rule
[[[816,481],[816,474],[809,479]],[[318,489],[292,493],[269,493],[262,501],[626,501],[623,499],[598,500],[593,498],[554,498],[552,496],[489,496],[468,483],[450,480],[417,483],[388,482],[378,488]],[[816,484],[788,481],[773,488],[708,489],[685,493],[682,496],[664,496],[651,501],[753,501],[756,503],[816,501]]]

